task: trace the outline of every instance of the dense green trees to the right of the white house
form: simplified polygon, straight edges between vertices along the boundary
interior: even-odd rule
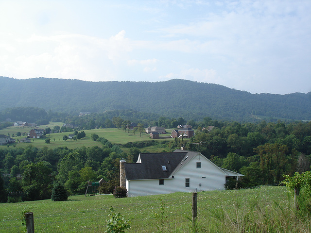
[[[310,170],[311,122],[227,122],[184,142],[217,166],[242,173],[242,186],[279,183],[283,174]]]

